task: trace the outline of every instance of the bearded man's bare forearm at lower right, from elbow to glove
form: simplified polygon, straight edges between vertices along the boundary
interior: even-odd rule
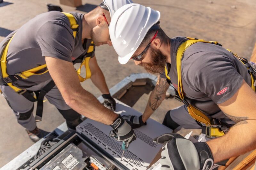
[[[223,137],[207,142],[214,162],[220,162],[256,149],[256,120],[243,120],[234,125]]]

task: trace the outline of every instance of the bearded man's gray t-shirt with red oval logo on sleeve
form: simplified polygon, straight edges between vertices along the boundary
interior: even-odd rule
[[[171,66],[168,76],[177,90],[176,52],[185,37],[171,39]],[[166,78],[165,74],[160,74]],[[197,42],[184,53],[181,64],[183,92],[188,102],[210,118],[233,124],[217,104],[230,99],[241,87],[243,79],[251,86],[247,68],[225,48]]]

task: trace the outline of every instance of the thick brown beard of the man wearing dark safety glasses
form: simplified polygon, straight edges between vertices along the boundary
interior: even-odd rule
[[[141,62],[139,65],[143,66],[145,70],[152,74],[159,74],[164,72],[166,57],[158,49],[151,52],[151,63]]]

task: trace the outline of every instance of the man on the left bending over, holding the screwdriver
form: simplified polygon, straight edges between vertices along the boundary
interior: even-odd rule
[[[111,17],[130,3],[131,0],[103,0],[87,14],[46,12],[1,42],[0,88],[32,141],[42,137],[36,122],[42,118],[44,96],[66,119],[69,130],[75,130],[84,115],[112,126],[111,136],[118,141],[131,143],[136,139],[131,126],[113,112],[116,102],[94,53],[95,46],[112,45],[108,28]],[[75,63],[81,63],[77,71]],[[85,77],[81,75],[83,68]],[[109,109],[83,89],[80,82],[88,78],[102,92]],[[35,101],[36,117],[32,114]]]

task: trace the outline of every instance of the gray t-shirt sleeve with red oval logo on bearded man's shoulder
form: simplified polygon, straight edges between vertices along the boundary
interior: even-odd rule
[[[195,91],[204,92],[216,104],[230,99],[241,87],[243,77],[237,72],[228,56],[202,51],[185,61],[183,75]],[[185,73],[185,74],[184,74]]]

